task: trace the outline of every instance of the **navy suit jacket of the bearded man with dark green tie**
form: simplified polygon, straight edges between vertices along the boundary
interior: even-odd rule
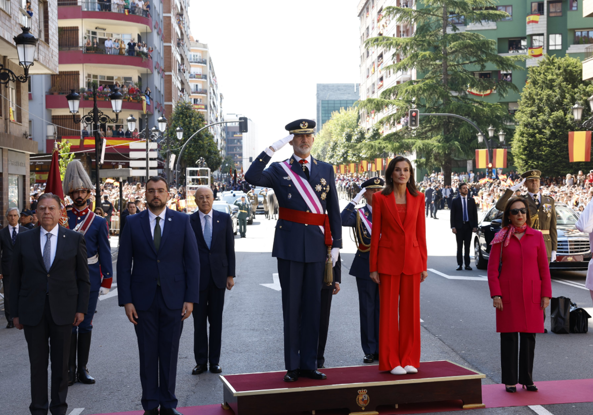
[[[161,277],[162,297],[169,309],[200,299],[200,258],[189,216],[167,207],[160,249],[154,248],[148,209],[127,218],[117,254],[119,305],[148,310]]]

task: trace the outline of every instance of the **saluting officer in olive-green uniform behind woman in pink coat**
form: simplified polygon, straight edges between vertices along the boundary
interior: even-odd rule
[[[527,193],[523,194],[522,197],[527,200],[529,206],[531,227],[544,234],[548,259],[556,261],[556,248],[558,245],[556,206],[554,205],[554,199],[540,193],[540,176],[541,172],[539,170],[529,170],[521,174],[523,180],[506,189],[505,194],[496,202],[496,209],[505,210],[506,201],[511,199],[515,191],[521,189],[521,185],[525,183]]]

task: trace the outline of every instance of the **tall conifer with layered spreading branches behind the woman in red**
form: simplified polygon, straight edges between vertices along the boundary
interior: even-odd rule
[[[380,120],[395,125],[411,108],[420,113],[452,113],[473,120],[485,131],[489,125],[508,132],[505,123],[511,120],[508,108],[487,103],[468,93],[496,89],[502,98],[509,90],[517,91],[512,82],[476,78],[475,71],[496,68],[511,72],[522,70],[517,65],[522,56],[500,56],[495,40],[482,34],[460,31],[449,19],[465,18],[467,23],[482,24],[508,17],[506,12],[492,10],[493,0],[423,0],[417,8],[387,7],[382,19],[408,22],[416,27],[411,37],[378,36],[366,41],[368,48],[393,52],[392,64],[383,71],[416,71],[417,78],[387,88],[380,98],[362,101],[367,113],[380,113],[386,108],[395,111]],[[400,56],[403,59],[400,60]],[[477,148],[476,130],[463,120],[452,117],[423,116],[420,127],[390,132],[381,139],[362,143],[368,151],[403,153],[416,151],[419,167],[432,170],[441,167],[445,184],[451,183],[451,167],[455,158],[474,157]]]

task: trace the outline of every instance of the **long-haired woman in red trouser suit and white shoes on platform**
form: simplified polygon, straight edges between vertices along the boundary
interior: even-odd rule
[[[409,159],[385,171],[372,200],[371,279],[379,284],[379,370],[416,373],[420,366],[420,283],[426,272],[424,195]]]

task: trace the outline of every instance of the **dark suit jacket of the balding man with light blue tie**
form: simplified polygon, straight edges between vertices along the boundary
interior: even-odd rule
[[[235,276],[235,237],[232,235],[231,216],[212,209],[210,249],[204,239],[199,210],[190,215],[190,224],[196,234],[197,250],[200,253],[200,291],[208,288],[209,277],[212,277],[216,287],[225,288],[227,277]]]

